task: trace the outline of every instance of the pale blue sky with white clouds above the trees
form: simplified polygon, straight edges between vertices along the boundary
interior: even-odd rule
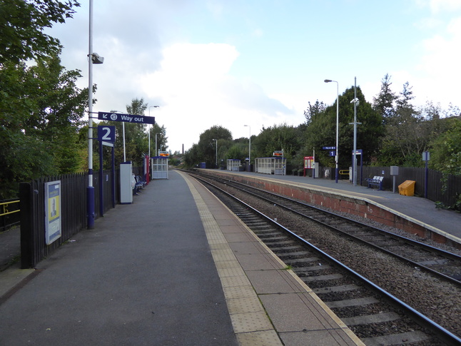
[[[89,0],[47,34],[88,87]],[[93,111],[134,98],[185,151],[223,126],[233,138],[305,121],[308,102],[354,85],[373,102],[386,73],[415,106],[461,106],[460,0],[93,0]],[[151,106],[159,106],[153,108]],[[358,119],[360,121],[360,119]],[[247,126],[245,126],[247,125]]]

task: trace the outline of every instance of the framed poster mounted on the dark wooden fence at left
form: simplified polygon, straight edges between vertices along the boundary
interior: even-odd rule
[[[45,183],[45,240],[61,238],[61,180]]]

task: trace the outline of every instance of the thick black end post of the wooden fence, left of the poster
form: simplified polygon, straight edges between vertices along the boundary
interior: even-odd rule
[[[21,210],[21,269],[34,266],[34,222],[32,213],[32,186],[19,183],[19,205]]]

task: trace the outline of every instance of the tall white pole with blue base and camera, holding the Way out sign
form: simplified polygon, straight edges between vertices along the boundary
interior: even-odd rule
[[[86,189],[86,218],[88,230],[94,228],[93,187],[93,63],[103,63],[104,58],[93,52],[93,0],[90,0],[88,26],[88,188]],[[102,169],[102,168],[100,168]]]

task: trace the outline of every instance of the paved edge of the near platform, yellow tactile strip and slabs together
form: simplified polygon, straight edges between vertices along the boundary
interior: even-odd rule
[[[240,345],[363,345],[221,201],[180,174],[201,215]]]

